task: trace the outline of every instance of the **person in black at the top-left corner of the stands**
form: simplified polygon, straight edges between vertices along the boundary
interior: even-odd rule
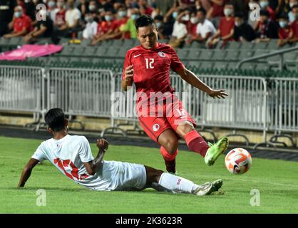
[[[14,7],[16,7],[15,0],[0,0],[0,37],[9,33],[9,23],[12,21],[14,15]]]

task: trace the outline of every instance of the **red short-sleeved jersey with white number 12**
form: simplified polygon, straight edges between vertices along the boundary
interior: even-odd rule
[[[137,93],[173,93],[175,90],[170,85],[170,69],[177,71],[184,68],[174,49],[165,43],[157,43],[155,48],[145,49],[137,46],[128,50],[125,56],[125,68],[133,65],[133,82]],[[138,102],[140,99],[138,99]]]

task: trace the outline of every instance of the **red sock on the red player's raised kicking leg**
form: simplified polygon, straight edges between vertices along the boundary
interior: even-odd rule
[[[209,146],[196,130],[192,130],[190,133],[187,133],[184,140],[190,150],[199,153],[202,157],[205,157]]]

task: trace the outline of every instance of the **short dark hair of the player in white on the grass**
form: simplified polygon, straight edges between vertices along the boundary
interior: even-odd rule
[[[61,131],[65,128],[65,115],[61,108],[52,108],[46,113],[44,120],[54,132]]]

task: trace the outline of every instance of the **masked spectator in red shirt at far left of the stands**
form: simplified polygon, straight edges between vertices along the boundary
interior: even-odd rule
[[[9,23],[9,28],[13,31],[4,35],[4,38],[12,38],[16,36],[26,36],[32,30],[31,19],[23,13],[21,6],[14,8],[14,19]]]

